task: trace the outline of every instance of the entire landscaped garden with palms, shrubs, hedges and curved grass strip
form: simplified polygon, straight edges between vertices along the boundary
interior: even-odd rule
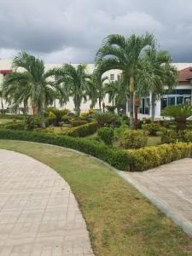
[[[44,61],[25,52],[15,57],[13,67],[3,81],[3,98],[15,107],[15,114],[0,114],[0,147],[31,155],[65,178],[84,213],[96,255],[191,255],[189,236],[89,157],[131,172],[192,157],[192,107],[167,107],[163,119],[154,119],[155,100],[165,93],[165,84],[172,90],[177,71],[171,56],[154,47],[153,36],[108,36],[96,53],[92,74],[84,65],[71,64],[45,71]],[[25,72],[18,72],[20,67]],[[111,69],[122,72],[118,81],[103,77]],[[139,120],[134,102],[149,93],[151,118]],[[103,102],[106,95],[110,106]],[[73,111],[64,108],[69,99]],[[49,107],[56,100],[62,109]],[[88,100],[90,110],[82,113],[81,104]],[[127,100],[129,117],[119,112]],[[22,114],[16,114],[18,109]]]

